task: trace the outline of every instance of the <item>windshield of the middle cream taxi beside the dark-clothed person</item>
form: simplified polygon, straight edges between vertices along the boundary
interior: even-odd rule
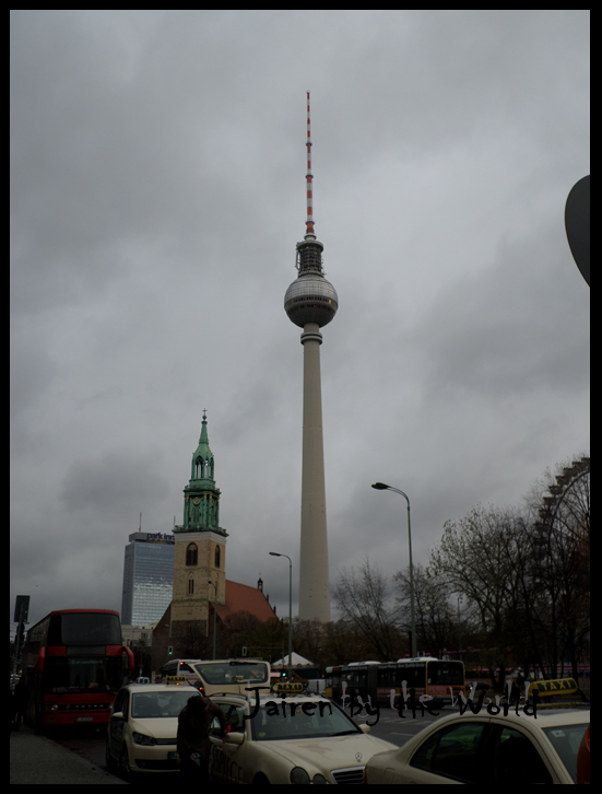
[[[302,707],[309,713],[304,713]],[[283,709],[286,716],[282,715]],[[252,713],[252,712],[251,712]],[[335,703],[322,701],[272,700],[251,719],[256,742],[312,739],[362,733]]]

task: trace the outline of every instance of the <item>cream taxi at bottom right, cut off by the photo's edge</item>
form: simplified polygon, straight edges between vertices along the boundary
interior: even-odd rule
[[[577,756],[589,710],[467,711],[437,720],[398,750],[366,764],[364,783],[505,785],[577,782]]]

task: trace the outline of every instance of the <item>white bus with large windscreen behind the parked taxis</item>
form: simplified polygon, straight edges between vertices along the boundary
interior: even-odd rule
[[[270,689],[270,663],[252,658],[169,659],[161,668],[162,677],[185,676],[189,684],[208,697],[217,692],[248,694],[246,687]]]

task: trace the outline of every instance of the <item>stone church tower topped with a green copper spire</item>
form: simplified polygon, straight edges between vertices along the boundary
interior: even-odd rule
[[[184,522],[174,527],[174,535],[170,633],[178,643],[178,639],[187,637],[206,637],[208,603],[226,602],[227,533],[220,527],[220,490],[215,486],[215,459],[209,446],[204,412],[190,481],[184,489]]]

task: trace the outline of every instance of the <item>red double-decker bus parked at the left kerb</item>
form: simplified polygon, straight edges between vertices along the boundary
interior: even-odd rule
[[[106,725],[133,654],[121,643],[119,614],[108,609],[60,609],[27,632],[23,676],[25,722],[36,729]]]

